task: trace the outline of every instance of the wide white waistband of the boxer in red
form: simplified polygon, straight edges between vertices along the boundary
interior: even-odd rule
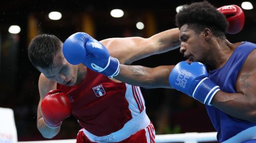
[[[127,123],[124,124],[123,128],[115,131],[106,136],[95,136],[87,130],[83,129],[83,133],[92,142],[100,143],[113,143],[120,142],[129,136],[135,134],[137,131],[145,129],[150,123],[150,120],[146,114],[146,111],[142,111],[138,116],[133,117]]]

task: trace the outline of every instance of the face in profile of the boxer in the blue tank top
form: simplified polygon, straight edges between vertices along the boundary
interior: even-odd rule
[[[183,25],[180,31],[180,52],[191,62],[198,61],[204,63],[205,58],[208,56],[208,44],[203,34],[195,33],[188,25]]]

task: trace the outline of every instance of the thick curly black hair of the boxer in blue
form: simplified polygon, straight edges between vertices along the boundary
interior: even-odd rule
[[[229,23],[226,17],[208,1],[195,2],[181,9],[175,17],[176,26],[187,24],[197,34],[209,28],[216,37],[225,39]]]

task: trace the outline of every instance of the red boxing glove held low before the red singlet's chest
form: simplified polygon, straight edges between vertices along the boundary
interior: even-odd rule
[[[61,90],[52,90],[41,103],[41,113],[48,127],[57,128],[71,115],[71,103]]]

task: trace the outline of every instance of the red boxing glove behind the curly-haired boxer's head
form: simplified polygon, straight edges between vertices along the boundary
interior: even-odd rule
[[[236,34],[243,29],[244,13],[240,7],[236,5],[230,5],[230,6],[220,7],[217,10],[220,11],[223,15],[225,15],[228,20],[229,34]]]

